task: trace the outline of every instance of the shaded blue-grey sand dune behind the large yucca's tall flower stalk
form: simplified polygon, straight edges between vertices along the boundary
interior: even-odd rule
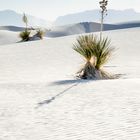
[[[140,22],[104,24],[104,31],[126,29],[126,28],[136,28],[136,27],[140,27]],[[47,32],[46,36],[47,37],[62,37],[62,36],[82,34],[82,33],[99,32],[100,29],[101,29],[100,23],[81,22],[77,24],[53,27],[49,32]]]

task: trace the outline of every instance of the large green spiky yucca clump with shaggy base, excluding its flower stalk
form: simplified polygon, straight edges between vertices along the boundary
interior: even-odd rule
[[[109,60],[113,52],[108,38],[98,39],[93,35],[77,38],[73,49],[86,60],[84,67],[78,72],[82,79],[110,79],[113,76],[104,72],[101,67]]]

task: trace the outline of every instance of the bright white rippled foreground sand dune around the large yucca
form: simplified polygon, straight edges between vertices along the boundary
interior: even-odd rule
[[[105,32],[117,80],[75,80],[77,36],[0,46],[0,139],[139,140],[140,28]]]

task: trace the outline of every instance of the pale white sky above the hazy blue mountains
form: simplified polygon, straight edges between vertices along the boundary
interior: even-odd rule
[[[58,16],[98,9],[99,0],[0,0],[0,10],[11,9],[53,21]],[[109,9],[134,9],[140,12],[140,0],[109,0]]]

